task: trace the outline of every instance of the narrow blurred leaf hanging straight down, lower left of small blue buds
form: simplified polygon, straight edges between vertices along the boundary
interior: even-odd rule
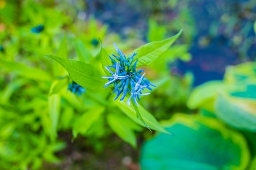
[[[52,95],[49,97],[49,117],[51,120],[51,139],[54,140],[57,137],[57,126],[59,122],[59,112],[60,112],[60,96]]]

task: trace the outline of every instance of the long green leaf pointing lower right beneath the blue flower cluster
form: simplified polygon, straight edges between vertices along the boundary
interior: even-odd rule
[[[126,114],[129,118],[131,118],[133,121],[138,123],[141,126],[145,126],[141,120],[137,118],[137,112],[131,105],[126,104],[127,99],[125,98],[123,101],[115,101],[114,103],[118,106],[118,108]],[[141,118],[145,121],[145,123],[151,128],[159,132],[164,132],[169,134],[162,125],[152,116],[146,109],[144,109],[142,106],[138,107],[138,111],[141,115]]]

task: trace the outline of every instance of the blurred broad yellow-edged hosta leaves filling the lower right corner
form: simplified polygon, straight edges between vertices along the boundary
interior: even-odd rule
[[[143,145],[142,169],[254,170],[255,99],[256,63],[229,66],[223,81],[207,82],[192,91],[187,105],[197,109],[197,116],[175,114],[163,122],[173,136],[158,134]],[[217,129],[222,139],[204,128]]]

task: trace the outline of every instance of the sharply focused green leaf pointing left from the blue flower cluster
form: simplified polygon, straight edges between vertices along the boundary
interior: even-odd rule
[[[93,66],[70,59],[63,59],[56,56],[48,55],[59,62],[69,73],[70,77],[79,85],[92,90],[103,89],[104,83],[100,73]]]

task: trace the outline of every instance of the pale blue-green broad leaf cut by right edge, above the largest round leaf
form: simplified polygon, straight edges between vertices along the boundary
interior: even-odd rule
[[[220,94],[215,103],[216,115],[227,124],[256,132],[256,100]]]

